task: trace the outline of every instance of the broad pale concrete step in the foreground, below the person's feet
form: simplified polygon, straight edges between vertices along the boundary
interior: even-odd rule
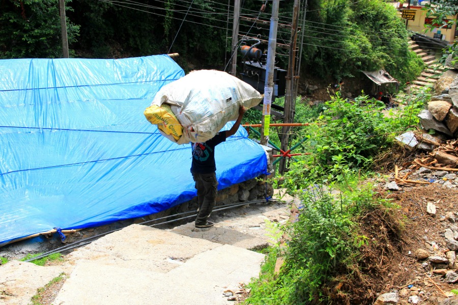
[[[73,252],[69,259],[75,267],[53,303],[230,304],[223,292],[259,276],[264,257],[231,245],[131,225]]]

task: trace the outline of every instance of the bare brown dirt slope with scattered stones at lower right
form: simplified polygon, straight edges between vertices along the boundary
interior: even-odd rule
[[[456,271],[458,264],[434,263],[431,257],[446,258],[450,252],[444,233],[457,227],[445,216],[452,212],[456,217],[458,190],[432,184],[379,191],[398,208],[392,212],[376,210],[360,219],[361,234],[369,238],[369,243],[362,249],[359,270],[352,270],[351,277],[342,274],[326,292],[335,304],[372,304],[387,292],[398,292],[399,304],[416,300],[418,304],[441,304],[453,295],[452,289],[458,289],[458,284],[447,283],[445,278],[445,272]],[[426,212],[428,202],[436,205],[436,215]],[[418,249],[429,258],[418,259]]]

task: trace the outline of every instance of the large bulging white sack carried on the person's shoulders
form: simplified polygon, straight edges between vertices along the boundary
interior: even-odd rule
[[[178,140],[160,131],[162,135],[178,144],[202,143],[236,120],[240,106],[249,109],[262,98],[252,86],[226,72],[198,70],[163,86],[151,105],[169,104],[183,126]]]

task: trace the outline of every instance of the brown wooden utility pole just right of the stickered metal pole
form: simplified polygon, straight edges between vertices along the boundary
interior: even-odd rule
[[[290,54],[288,62],[288,74],[286,79],[286,90],[284,95],[284,115],[283,123],[293,123],[294,118],[294,105],[296,100],[294,83],[295,83],[295,64],[296,64],[296,46],[297,46],[297,31],[299,23],[299,8],[300,0],[294,0],[293,6],[293,23],[291,27],[291,42]],[[280,148],[283,151],[288,150],[289,132],[291,127],[284,126],[281,129]],[[282,174],[285,170],[287,160],[282,158],[278,167],[278,171]]]

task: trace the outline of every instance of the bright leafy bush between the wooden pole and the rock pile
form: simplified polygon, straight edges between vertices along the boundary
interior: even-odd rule
[[[338,94],[324,104],[324,111],[305,127],[298,138],[306,138],[298,152],[310,153],[291,162],[284,179],[287,186],[303,188],[303,181],[345,182],[352,172],[370,170],[374,157],[390,149],[393,138],[419,125],[417,114],[430,100],[430,88],[406,96],[408,105],[384,110],[385,105],[367,96],[355,102]]]

